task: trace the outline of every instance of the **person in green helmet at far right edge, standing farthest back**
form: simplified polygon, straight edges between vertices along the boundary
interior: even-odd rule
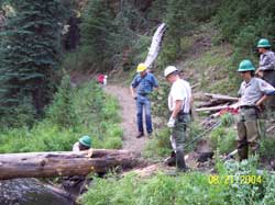
[[[257,42],[260,62],[255,73],[275,88],[275,53],[271,50],[271,46],[266,38],[261,38]],[[270,96],[264,105],[266,114],[275,119],[275,96]]]

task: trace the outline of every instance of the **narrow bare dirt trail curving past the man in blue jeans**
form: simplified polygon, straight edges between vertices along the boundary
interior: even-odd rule
[[[121,116],[123,128],[123,149],[132,150],[136,153],[141,153],[145,147],[146,137],[135,138],[138,134],[136,123],[135,123],[135,102],[131,96],[129,88],[108,84],[105,88],[106,92],[113,95],[119,100],[121,106]]]

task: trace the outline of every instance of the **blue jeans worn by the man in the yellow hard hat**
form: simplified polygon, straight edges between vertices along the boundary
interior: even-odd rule
[[[138,95],[136,99],[136,117],[138,117],[138,129],[140,133],[143,132],[143,107],[145,110],[145,123],[147,133],[152,133],[152,118],[151,118],[151,102],[146,96]]]

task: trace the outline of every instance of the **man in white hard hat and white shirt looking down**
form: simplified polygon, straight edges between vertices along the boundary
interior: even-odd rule
[[[170,140],[175,151],[174,160],[178,171],[186,171],[184,140],[190,118],[191,93],[187,88],[187,83],[180,79],[178,69],[175,66],[168,66],[164,70],[164,77],[172,84],[168,95],[168,107],[172,115],[167,126],[173,129]],[[170,160],[173,160],[173,156]]]

